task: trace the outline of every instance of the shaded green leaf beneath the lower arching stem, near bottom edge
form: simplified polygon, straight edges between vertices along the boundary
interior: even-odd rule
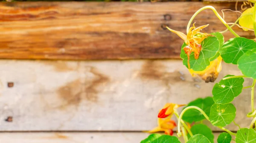
[[[192,134],[202,134],[207,137],[211,143],[214,143],[214,135],[212,134],[212,130],[208,126],[204,124],[195,124],[191,127],[190,130]],[[189,134],[188,137],[190,137]]]

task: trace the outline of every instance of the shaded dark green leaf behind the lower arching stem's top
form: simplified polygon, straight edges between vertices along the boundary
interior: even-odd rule
[[[214,103],[214,101],[213,101],[212,97],[206,97],[204,99],[198,98],[198,99],[190,102],[188,104],[188,106],[197,106],[197,107],[201,108],[207,114],[207,116],[209,116],[210,109],[211,109],[211,106],[213,103]],[[188,107],[188,106],[186,106],[186,107]],[[198,121],[204,120],[205,117],[203,114],[201,114],[201,112],[199,112],[196,109],[188,109],[183,114],[182,119],[188,123],[192,123],[192,122],[198,122]]]

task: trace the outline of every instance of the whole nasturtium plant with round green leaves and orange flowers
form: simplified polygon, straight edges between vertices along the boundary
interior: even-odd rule
[[[221,72],[222,60],[225,63],[236,65],[242,74],[227,74],[226,76],[219,77],[221,78],[219,82],[215,83],[212,91],[209,91],[209,95],[212,95],[212,97],[195,97],[195,100],[187,103],[186,106],[186,103],[166,103],[157,115],[159,126],[153,129],[153,131],[162,131],[172,136],[174,129],[177,127],[177,137],[183,136],[185,143],[214,143],[211,127],[204,125],[202,122],[207,120],[212,124],[211,126],[223,130],[218,136],[217,143],[231,143],[232,140],[235,140],[236,143],[256,143],[256,108],[254,106],[256,38],[240,37],[232,29],[239,22],[238,26],[240,28],[245,31],[254,31],[256,36],[256,9],[254,8],[254,3],[256,3],[256,0],[248,0],[243,3],[243,5],[247,4],[251,8],[243,9],[241,16],[235,23],[227,23],[214,7],[204,6],[196,11],[189,20],[186,34],[166,27],[184,40],[183,45],[180,43],[180,57],[183,60],[183,65],[186,66],[192,77],[201,77],[206,82],[205,84],[209,82],[214,83]],[[193,26],[191,26],[195,16],[205,9],[211,9],[227,29],[208,34],[204,32],[204,28],[209,26],[209,24],[196,27],[195,23],[193,23]],[[230,31],[234,37],[224,41],[223,33],[226,31]],[[250,86],[244,86],[245,78],[250,79]],[[250,117],[251,122],[247,123],[248,127],[250,125],[249,128],[241,128],[235,122],[236,107],[232,104],[232,101],[243,92],[243,89],[247,88],[250,88],[251,91],[251,108],[249,113],[244,113],[244,117]],[[179,113],[178,108],[181,108],[181,106],[185,106],[185,108]],[[177,126],[175,121],[171,119],[173,116],[177,117]],[[232,122],[233,124],[231,124]],[[232,132],[226,129],[225,126],[229,124],[238,126],[239,130]],[[166,140],[171,138],[165,137],[167,136],[149,135],[141,143],[167,143]],[[177,137],[172,138],[174,143],[179,143],[176,140]],[[150,142],[145,142],[147,140],[150,140]],[[155,142],[156,140],[157,142]],[[169,141],[168,143],[172,142]]]

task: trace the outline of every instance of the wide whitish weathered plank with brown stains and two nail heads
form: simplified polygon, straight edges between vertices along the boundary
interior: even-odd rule
[[[241,73],[224,64],[217,81],[226,74]],[[192,78],[180,60],[0,60],[0,81],[0,131],[150,130],[167,102],[211,96],[214,85]],[[236,122],[248,126],[250,89],[233,103]]]

